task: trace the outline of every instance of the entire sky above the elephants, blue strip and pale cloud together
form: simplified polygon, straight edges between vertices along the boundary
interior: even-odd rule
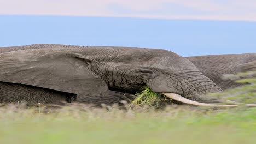
[[[137,0],[135,4],[133,0],[104,0],[99,6],[96,2],[100,1],[38,0],[42,7],[31,0],[19,2],[0,0],[1,47],[37,43],[130,46],[166,49],[182,56],[256,52],[253,1]],[[54,8],[58,4],[61,7]]]

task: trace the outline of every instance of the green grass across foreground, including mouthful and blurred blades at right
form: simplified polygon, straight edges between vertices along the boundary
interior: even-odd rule
[[[215,94],[224,100],[255,103],[255,73],[228,75],[246,86]],[[144,96],[143,96],[144,95]],[[150,95],[149,98],[145,95]],[[133,105],[124,102],[90,105],[0,106],[0,143],[255,143],[256,107],[234,108],[170,105],[150,89],[138,93]]]

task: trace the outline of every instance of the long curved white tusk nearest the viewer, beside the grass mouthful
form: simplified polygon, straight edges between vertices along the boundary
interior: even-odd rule
[[[215,106],[215,107],[235,107],[235,106],[237,106],[237,105],[214,105],[214,104],[199,103],[197,101],[186,99],[186,98],[184,98],[181,95],[178,95],[176,93],[162,93],[162,94],[166,95],[166,97],[168,97],[168,98],[180,101],[180,102],[185,103],[185,104],[190,104],[190,105]]]

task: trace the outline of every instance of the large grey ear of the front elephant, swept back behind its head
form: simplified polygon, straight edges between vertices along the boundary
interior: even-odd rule
[[[96,62],[78,49],[20,50],[0,54],[0,81],[84,95],[108,95]]]

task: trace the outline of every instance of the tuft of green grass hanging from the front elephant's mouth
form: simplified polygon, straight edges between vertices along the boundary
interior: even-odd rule
[[[158,107],[160,102],[164,100],[166,100],[166,97],[163,95],[161,97],[161,93],[156,93],[145,86],[140,93],[137,93],[137,97],[131,104],[137,106],[149,105],[151,107]]]

